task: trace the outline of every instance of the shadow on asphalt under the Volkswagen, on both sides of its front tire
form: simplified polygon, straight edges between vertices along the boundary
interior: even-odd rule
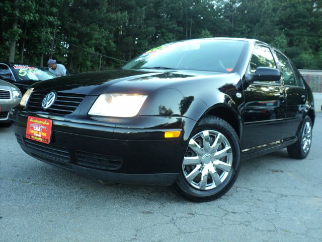
[[[263,173],[270,175],[271,173],[283,172],[283,169],[290,162],[294,162],[293,159],[287,157],[287,151],[283,149],[260,158],[243,161],[236,186],[239,186],[238,184],[244,184],[243,186],[246,186],[247,189],[253,189],[252,184],[248,184],[245,181],[261,180]],[[104,181],[83,177],[31,157],[28,157],[26,163],[23,163],[22,166],[17,168],[19,168],[19,171],[17,170],[19,174],[14,176],[20,177],[19,181],[24,184],[38,186],[39,189],[44,190],[44,193],[48,193],[48,191],[53,189],[60,191],[60,193],[63,193],[63,191],[72,191],[75,196],[77,194],[82,196],[89,193],[93,196],[104,198],[106,202],[110,199],[134,201],[138,198],[142,201],[160,201],[164,203],[188,202],[179,198],[171,187],[106,183]],[[224,197],[229,199],[227,196],[232,194],[233,191],[234,189]]]

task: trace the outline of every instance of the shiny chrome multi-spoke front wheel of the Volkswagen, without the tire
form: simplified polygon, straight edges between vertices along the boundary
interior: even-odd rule
[[[218,187],[232,170],[232,150],[227,138],[213,130],[205,130],[189,141],[182,164],[188,183],[198,190]]]

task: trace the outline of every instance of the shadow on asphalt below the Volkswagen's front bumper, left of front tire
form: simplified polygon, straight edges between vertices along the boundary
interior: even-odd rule
[[[30,172],[29,172],[30,171]],[[168,186],[144,186],[108,183],[94,178],[84,177],[55,167],[42,161],[32,160],[29,162],[29,171],[21,176],[32,177],[24,181],[25,183],[43,186],[44,190],[58,189],[70,191],[73,193],[91,193],[97,196],[106,195],[109,199],[127,199],[141,197],[144,200],[153,200],[164,202],[182,201]],[[31,174],[34,173],[34,174]],[[45,191],[46,193],[46,191]]]

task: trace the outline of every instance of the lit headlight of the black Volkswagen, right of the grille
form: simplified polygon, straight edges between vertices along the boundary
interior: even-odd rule
[[[146,95],[139,94],[101,94],[91,107],[89,114],[111,117],[133,117],[139,112],[146,98]]]

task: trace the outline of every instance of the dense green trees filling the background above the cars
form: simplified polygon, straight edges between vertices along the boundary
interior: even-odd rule
[[[100,61],[101,70],[123,64],[108,56],[128,61],[167,42],[227,36],[268,42],[298,68],[322,69],[316,0],[3,0],[0,15],[4,61],[11,51],[16,62],[46,66],[53,57],[72,72],[98,71]]]

